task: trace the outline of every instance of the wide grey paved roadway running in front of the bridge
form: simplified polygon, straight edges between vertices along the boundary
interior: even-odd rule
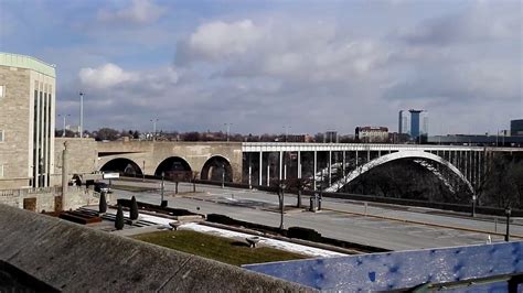
[[[118,198],[130,198],[135,195],[140,202],[160,203],[157,191],[160,187],[159,182],[118,180],[113,183],[151,189],[115,189],[114,194]],[[179,194],[174,196],[174,184],[166,182],[164,195],[170,207],[279,226],[278,196],[271,193],[210,185],[196,185],[196,193],[192,193],[191,184],[181,183]],[[296,196],[286,195],[285,203],[296,205]],[[308,206],[309,197],[303,196],[302,203]],[[325,237],[389,250],[484,243],[489,236],[492,241],[502,241],[505,228],[504,224],[497,225],[493,217],[472,219],[462,214],[441,215],[438,210],[426,208],[363,205],[338,198],[323,198],[322,207],[323,210],[319,213],[288,210],[285,214],[285,227],[312,228]],[[495,226],[498,234],[494,231]],[[523,226],[511,225],[511,234],[523,236]]]

